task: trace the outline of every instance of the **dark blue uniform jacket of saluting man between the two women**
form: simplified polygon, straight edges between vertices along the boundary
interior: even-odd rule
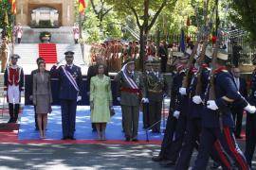
[[[69,68],[67,65],[65,65],[64,67],[66,71],[68,71],[74,77],[79,89],[81,90],[81,86],[82,86],[81,68],[76,65],[73,65],[72,68]],[[76,100],[78,95],[80,95],[80,92],[77,92],[77,90],[71,84],[67,76],[65,76],[61,66],[57,69],[57,66],[54,65],[51,68],[50,73],[54,73],[54,75],[59,78],[60,99]]]

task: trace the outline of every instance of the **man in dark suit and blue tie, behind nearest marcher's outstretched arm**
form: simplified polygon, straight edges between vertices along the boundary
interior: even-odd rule
[[[245,98],[247,98],[247,82],[243,77],[240,76],[239,68],[232,68],[231,74],[233,76],[235,85],[239,93],[241,93]],[[235,122],[235,137],[237,139],[242,139],[240,134],[242,129],[244,109],[241,108],[239,105],[232,105],[231,112]]]

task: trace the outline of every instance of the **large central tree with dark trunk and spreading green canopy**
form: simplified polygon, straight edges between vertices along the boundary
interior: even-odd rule
[[[110,5],[119,11],[120,14],[134,15],[137,27],[139,28],[139,65],[143,69],[145,56],[145,42],[149,31],[155,25],[155,21],[162,9],[165,7],[174,8],[177,0],[106,0]]]

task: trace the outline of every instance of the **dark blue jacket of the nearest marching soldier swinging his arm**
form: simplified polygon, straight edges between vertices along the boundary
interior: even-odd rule
[[[236,102],[238,105],[241,105],[243,108],[247,106],[247,101],[242,97],[240,93],[238,93],[232,76],[225,70],[215,74],[214,86],[216,95],[215,102],[219,110],[209,110],[204,108],[202,112],[203,127],[220,126],[218,111],[222,112],[223,125],[225,127],[234,127],[234,122],[229,108],[231,103],[225,101],[222,97],[229,97],[229,99],[234,100],[234,102]]]

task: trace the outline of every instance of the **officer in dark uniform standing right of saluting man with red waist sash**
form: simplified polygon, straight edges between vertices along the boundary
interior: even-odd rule
[[[147,76],[148,99],[149,99],[149,113],[150,126],[152,132],[159,133],[161,126],[161,110],[163,96],[167,95],[167,83],[165,77],[160,74],[159,60],[153,60],[153,72]],[[158,122],[158,123],[157,123]]]

